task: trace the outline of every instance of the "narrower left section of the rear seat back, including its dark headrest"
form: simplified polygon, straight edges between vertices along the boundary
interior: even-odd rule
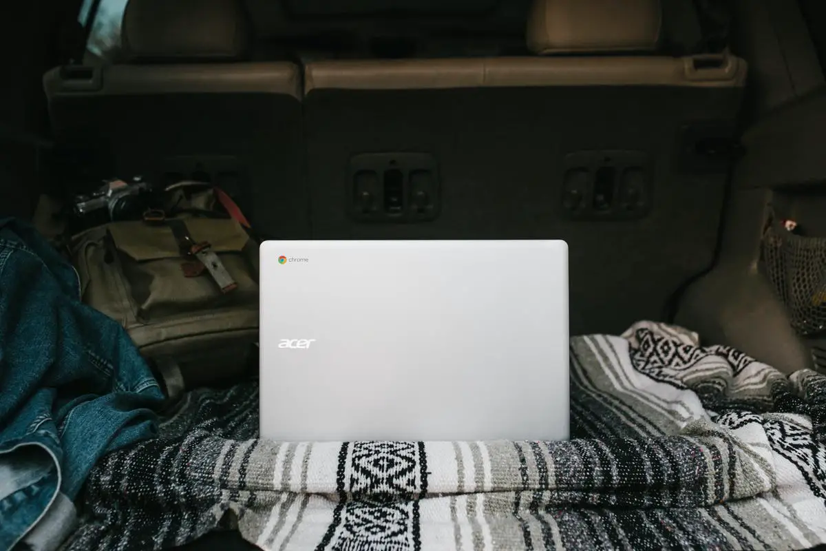
[[[58,139],[112,175],[211,178],[264,234],[306,237],[297,66],[247,61],[233,0],[130,0],[121,29],[123,62],[45,75]]]

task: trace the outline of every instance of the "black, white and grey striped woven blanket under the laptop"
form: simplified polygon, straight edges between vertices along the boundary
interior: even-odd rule
[[[108,455],[66,549],[225,526],[263,549],[806,549],[826,543],[826,376],[652,323],[571,341],[567,442],[256,439],[255,382]],[[296,412],[301,415],[300,411]]]

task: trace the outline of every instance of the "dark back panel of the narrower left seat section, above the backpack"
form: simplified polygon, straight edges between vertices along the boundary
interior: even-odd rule
[[[201,179],[231,192],[265,235],[307,237],[301,103],[287,93],[57,94],[55,133],[110,175]],[[105,167],[105,168],[104,168]],[[228,178],[228,179],[222,179]]]

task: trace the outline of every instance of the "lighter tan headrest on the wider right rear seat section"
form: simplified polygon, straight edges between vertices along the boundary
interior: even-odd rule
[[[659,0],[534,0],[528,48],[534,54],[657,50]]]

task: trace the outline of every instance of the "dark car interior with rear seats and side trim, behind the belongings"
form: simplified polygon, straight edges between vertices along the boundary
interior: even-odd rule
[[[571,335],[664,321],[826,370],[823,2],[17,9],[3,215],[140,175],[269,239],[565,240]]]

